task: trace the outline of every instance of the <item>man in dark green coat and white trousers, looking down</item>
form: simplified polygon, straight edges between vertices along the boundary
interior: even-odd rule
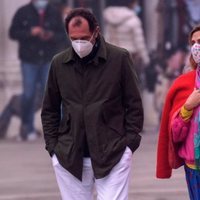
[[[72,10],[72,47],[52,60],[42,107],[46,149],[63,200],[128,198],[143,107],[128,51],[104,41],[94,15]]]

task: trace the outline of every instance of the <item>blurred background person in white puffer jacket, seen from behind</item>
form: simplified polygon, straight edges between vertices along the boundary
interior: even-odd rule
[[[104,34],[106,41],[129,51],[140,84],[144,84],[144,68],[150,59],[137,8],[137,0],[116,0],[110,4],[103,12]]]

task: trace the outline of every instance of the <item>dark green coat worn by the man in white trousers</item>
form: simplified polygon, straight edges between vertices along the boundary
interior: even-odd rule
[[[46,149],[66,170],[81,180],[86,133],[95,177],[108,175],[126,146],[134,152],[141,140],[143,106],[128,51],[100,37],[85,66],[72,48],[56,55],[41,116]]]

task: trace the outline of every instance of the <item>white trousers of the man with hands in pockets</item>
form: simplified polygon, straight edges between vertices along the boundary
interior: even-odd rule
[[[83,160],[82,182],[64,169],[56,155],[52,163],[61,193],[62,200],[93,200],[94,188],[97,200],[127,200],[132,152],[129,147],[110,174],[101,179],[95,179],[90,158]]]

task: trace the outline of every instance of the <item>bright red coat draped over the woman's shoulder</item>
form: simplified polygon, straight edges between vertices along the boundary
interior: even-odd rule
[[[158,138],[157,178],[170,178],[172,169],[176,169],[184,163],[177,153],[179,146],[172,142],[170,124],[174,113],[182,107],[194,90],[195,73],[196,71],[193,70],[178,77],[166,96]]]

